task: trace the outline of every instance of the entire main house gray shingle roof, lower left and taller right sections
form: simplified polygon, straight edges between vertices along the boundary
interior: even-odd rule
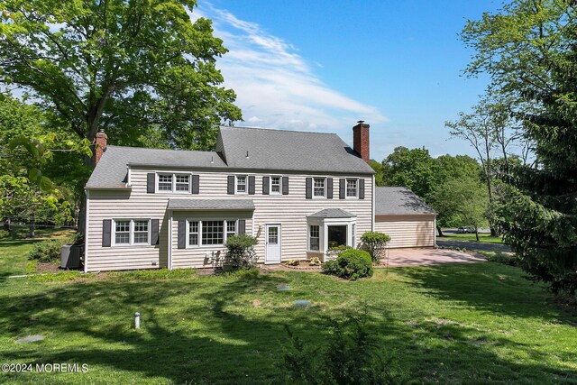
[[[218,152],[109,145],[88,179],[87,188],[124,187],[129,164],[374,174],[371,167],[335,133],[221,127],[216,149]]]

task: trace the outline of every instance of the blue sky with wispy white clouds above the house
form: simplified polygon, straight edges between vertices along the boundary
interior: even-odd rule
[[[229,53],[218,60],[243,126],[338,133],[371,124],[371,158],[399,145],[474,155],[444,121],[468,110],[486,81],[463,77],[458,33],[498,1],[199,0]]]

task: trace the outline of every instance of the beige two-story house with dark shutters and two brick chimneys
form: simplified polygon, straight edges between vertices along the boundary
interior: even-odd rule
[[[96,134],[86,186],[86,271],[210,267],[231,234],[257,236],[263,263],[321,257],[387,217],[375,212],[362,122],[353,149],[334,133],[237,127],[220,129],[215,151],[106,141]],[[423,218],[417,245],[432,245],[435,215]]]

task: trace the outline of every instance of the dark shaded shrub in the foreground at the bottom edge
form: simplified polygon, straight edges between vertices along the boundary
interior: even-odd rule
[[[395,384],[401,383],[391,370],[392,359],[380,353],[380,344],[368,328],[369,316],[361,314],[328,320],[328,344],[318,347],[294,335],[279,364],[287,383],[299,384]]]

